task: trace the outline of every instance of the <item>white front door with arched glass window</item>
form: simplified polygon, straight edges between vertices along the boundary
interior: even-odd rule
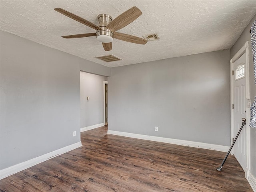
[[[234,119],[233,125],[234,135],[233,138],[236,138],[240,127],[242,126],[242,118],[246,118],[246,80],[245,80],[245,63],[246,63],[246,54],[244,53],[236,62],[234,62],[234,76],[233,76],[233,104],[234,104]],[[248,122],[248,120],[247,120]],[[246,169],[246,126],[243,127],[242,132],[240,133],[236,143],[234,144],[234,156],[242,166]]]

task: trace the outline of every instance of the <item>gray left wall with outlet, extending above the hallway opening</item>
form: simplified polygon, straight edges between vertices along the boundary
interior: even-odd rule
[[[110,69],[2,31],[0,42],[2,170],[79,142],[80,69]]]

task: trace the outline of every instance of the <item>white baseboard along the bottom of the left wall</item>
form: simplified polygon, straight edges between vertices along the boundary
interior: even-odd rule
[[[56,156],[59,156],[59,155],[64,154],[66,152],[69,152],[71,150],[74,150],[74,149],[76,149],[80,146],[82,146],[82,143],[77,142],[77,143],[74,143],[72,145],[69,145],[69,146],[57,149],[55,151],[52,151],[50,153],[46,153],[46,154],[41,155],[39,157],[27,160],[27,161],[19,163],[19,164],[16,164],[14,166],[10,166],[8,168],[2,169],[2,170],[0,170],[0,180],[3,179],[3,178],[6,178],[6,177],[8,177],[12,174],[18,173],[22,170],[25,170],[27,168],[30,168],[30,167],[32,167],[36,164],[42,163],[46,160],[49,160],[51,158],[54,158]]]

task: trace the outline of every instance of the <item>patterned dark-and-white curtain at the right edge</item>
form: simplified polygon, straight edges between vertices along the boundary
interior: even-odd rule
[[[253,57],[253,68],[254,68],[254,83],[256,85],[256,20],[252,24],[251,28],[251,39],[252,39],[252,57]],[[256,128],[256,96],[251,107],[251,118],[250,126]]]

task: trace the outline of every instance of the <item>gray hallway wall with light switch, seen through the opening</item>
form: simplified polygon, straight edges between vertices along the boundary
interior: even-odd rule
[[[104,76],[80,72],[81,128],[103,123],[103,81],[107,80]]]

